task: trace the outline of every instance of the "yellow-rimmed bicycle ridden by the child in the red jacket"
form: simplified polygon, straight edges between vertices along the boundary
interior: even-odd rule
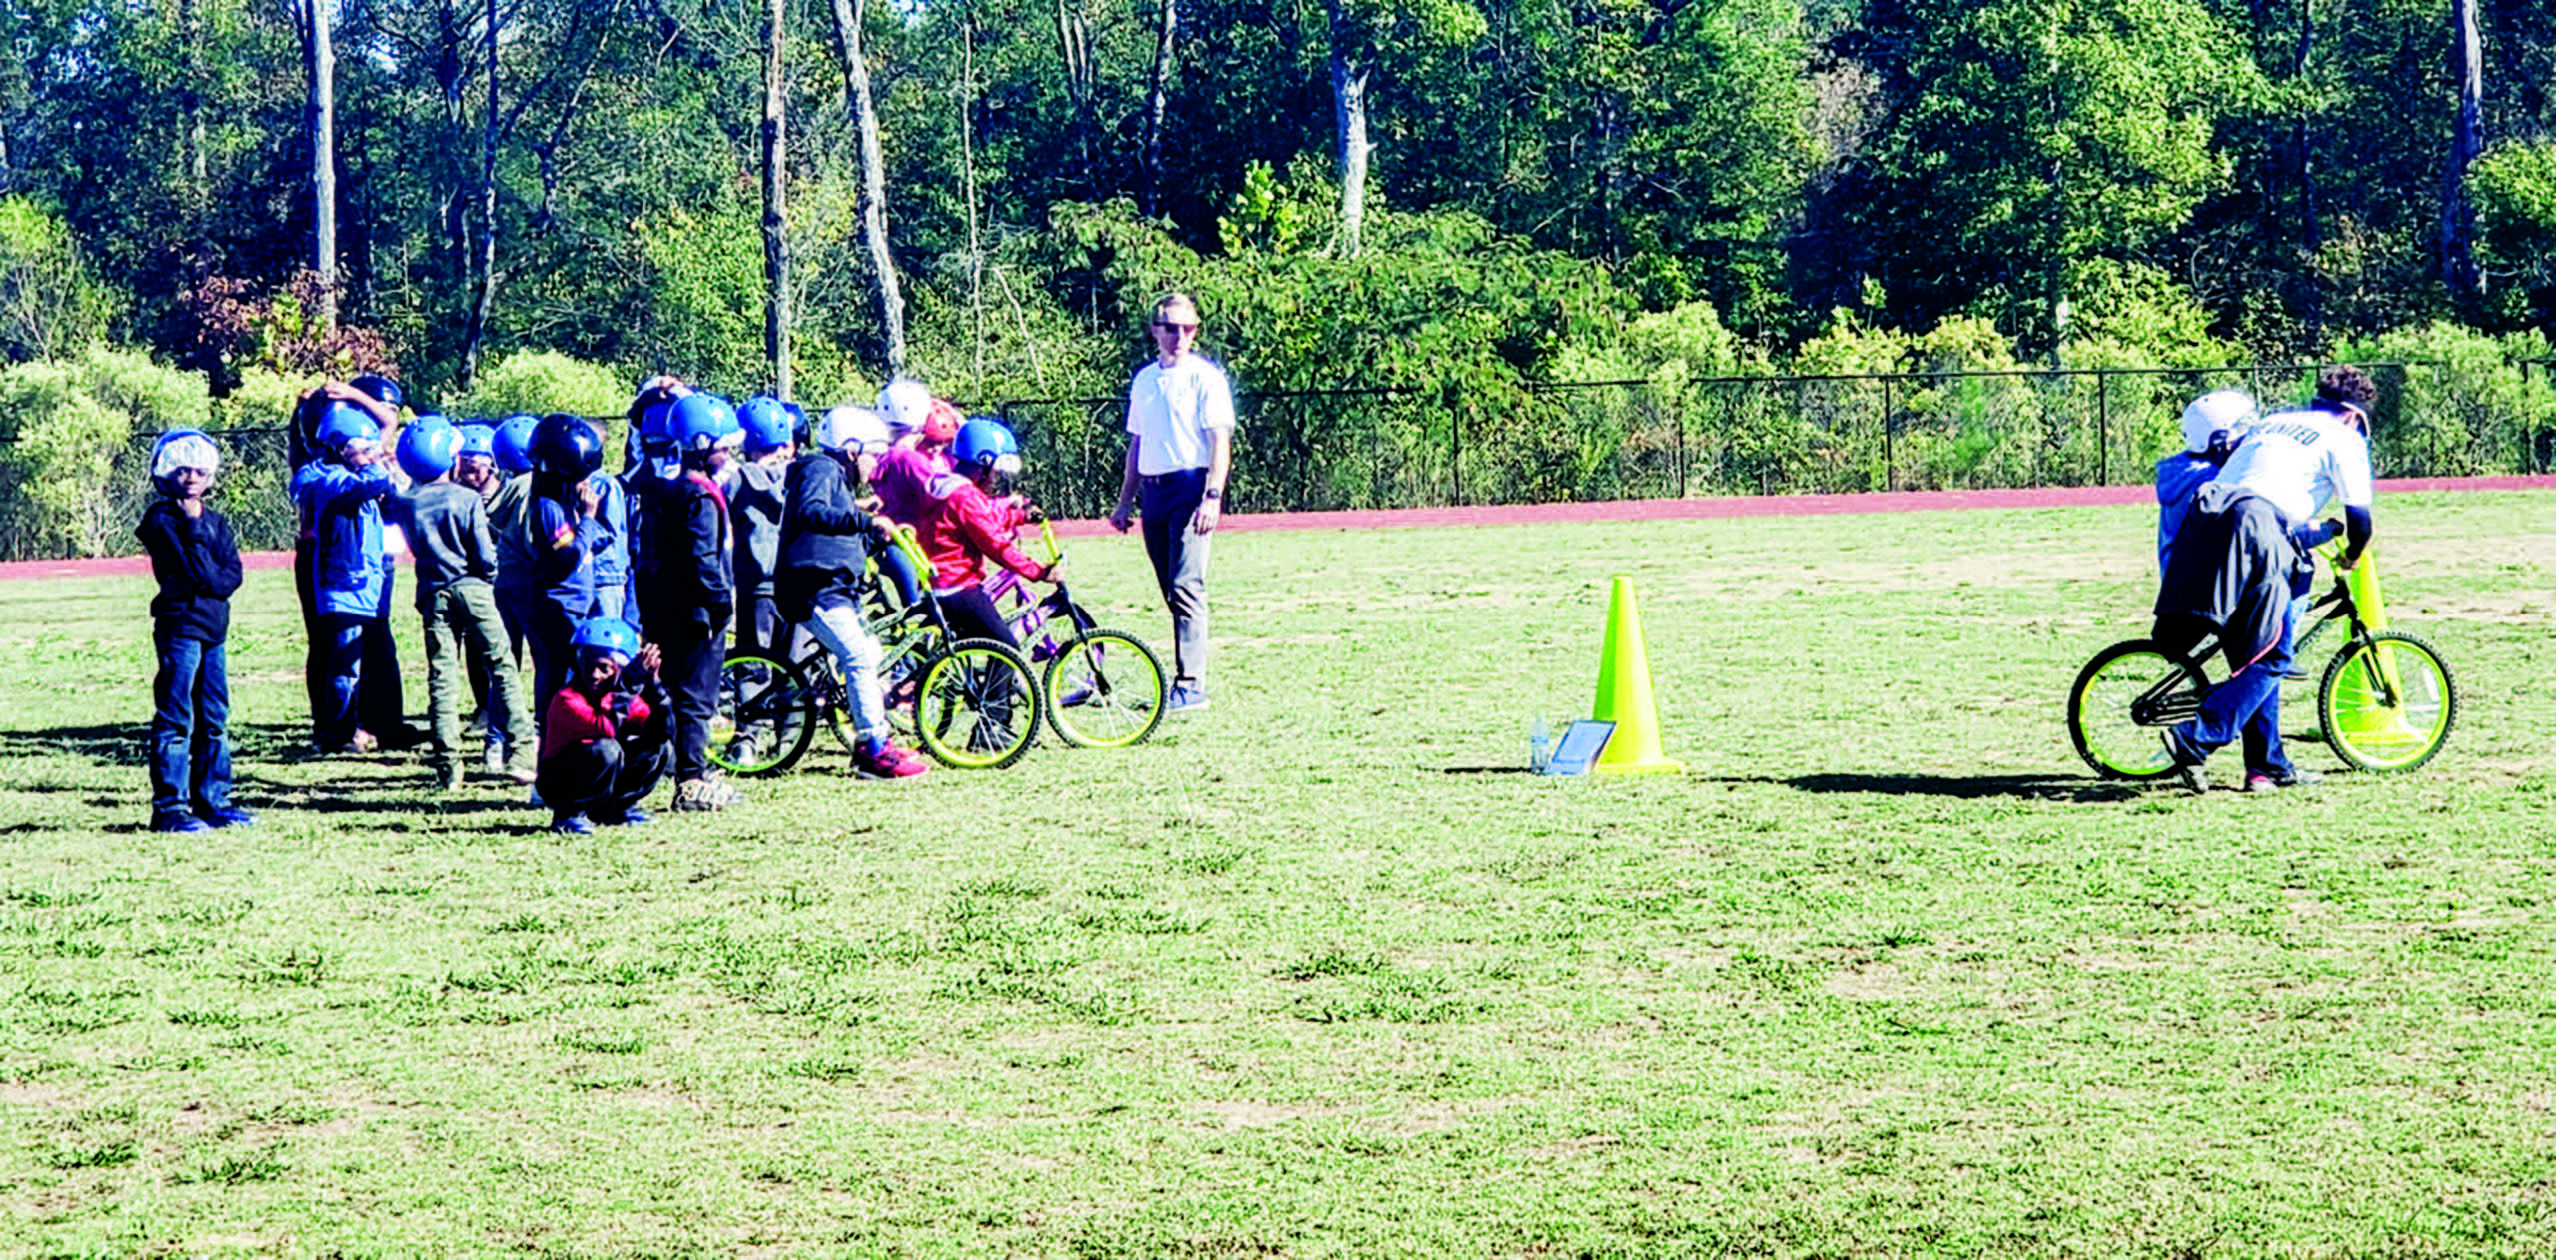
[[[1045,539],[1048,562],[1063,560],[1048,516],[1033,511],[1030,519]],[[1163,726],[1171,680],[1163,675],[1163,659],[1143,639],[1099,626],[1081,603],[1074,603],[1066,583],[1033,595],[1017,572],[1002,570],[984,583],[984,590],[1038,667],[1056,739],[1076,749],[1132,749],[1153,739]]]

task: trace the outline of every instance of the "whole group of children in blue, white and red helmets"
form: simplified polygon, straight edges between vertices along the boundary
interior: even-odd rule
[[[667,774],[677,810],[739,803],[708,759],[731,624],[739,649],[820,642],[849,682],[854,769],[923,774],[889,739],[882,647],[861,611],[872,580],[892,603],[923,598],[925,575],[889,544],[897,526],[923,542],[930,595],[961,634],[1017,647],[982,590],[987,560],[1056,580],[1012,544],[1028,509],[1005,493],[1020,470],[1010,429],[961,422],[915,381],[889,383],[877,411],[836,406],[810,424],[795,404],[731,409],[659,376],[631,401],[621,475],[603,473],[603,432],[583,417],[399,417],[399,386],[381,376],[322,383],[294,414],[314,751],[429,744],[437,787],[460,787],[468,685],[486,718],[481,762],[532,785],[557,831],[644,823],[642,800]],[[230,803],[222,644],[240,552],[204,503],[217,465],[207,434],[164,434],[161,498],[138,529],[158,580],[153,831],[250,820]],[[391,649],[391,526],[417,570],[424,731],[406,726]]]

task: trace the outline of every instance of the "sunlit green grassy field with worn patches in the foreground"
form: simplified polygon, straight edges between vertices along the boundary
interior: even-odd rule
[[[2459,731],[2272,797],[2068,751],[2152,526],[1229,534],[1143,749],[590,838],[284,759],[281,572],[151,836],[146,583],[5,588],[0,1255],[2556,1255],[2556,496],[2382,503]],[[1690,772],[1523,774],[1615,572]]]

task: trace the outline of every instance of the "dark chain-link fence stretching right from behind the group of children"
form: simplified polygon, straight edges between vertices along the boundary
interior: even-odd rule
[[[2541,399],[2444,391],[2421,363],[2380,383],[2380,475],[2548,473],[2556,376]],[[1546,383],[1482,414],[1434,391],[1240,394],[1232,511],[1557,503],[1751,493],[1981,491],[2144,483],[2183,445],[2183,404],[2247,388],[2267,409],[2316,365],[1907,376],[1733,376]],[[1030,486],[1058,516],[1117,501],[1125,399],[1002,404]],[[1470,419],[1467,419],[1470,417]]]

